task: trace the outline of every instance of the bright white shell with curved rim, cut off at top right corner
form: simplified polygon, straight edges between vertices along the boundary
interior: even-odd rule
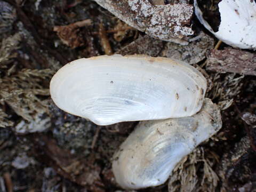
[[[219,3],[221,22],[215,33],[203,18],[203,13],[194,1],[195,14],[206,29],[228,45],[241,49],[256,48],[256,3],[250,0],[222,0]]]

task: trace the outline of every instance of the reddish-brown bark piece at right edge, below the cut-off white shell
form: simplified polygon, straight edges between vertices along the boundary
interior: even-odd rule
[[[220,73],[238,73],[256,75],[256,54],[247,51],[226,48],[212,50],[207,55],[206,68]]]

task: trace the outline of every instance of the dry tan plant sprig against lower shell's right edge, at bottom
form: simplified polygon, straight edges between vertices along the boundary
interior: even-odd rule
[[[212,169],[214,161],[204,153],[204,149],[198,147],[182,159],[169,179],[169,192],[215,191],[219,178]]]

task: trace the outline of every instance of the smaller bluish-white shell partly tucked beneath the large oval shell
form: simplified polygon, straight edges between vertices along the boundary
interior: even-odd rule
[[[220,110],[210,99],[191,117],[140,122],[114,155],[117,183],[125,189],[163,184],[175,165],[221,125]]]

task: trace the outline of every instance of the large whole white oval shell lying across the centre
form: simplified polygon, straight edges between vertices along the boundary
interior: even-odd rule
[[[59,108],[98,125],[191,116],[205,91],[206,80],[194,67],[145,55],[78,59],[50,84]]]

